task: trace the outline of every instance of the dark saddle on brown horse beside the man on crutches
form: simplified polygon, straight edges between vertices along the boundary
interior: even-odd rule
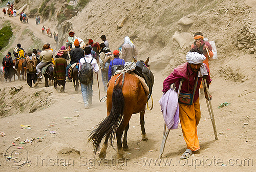
[[[135,74],[137,74],[138,76],[144,78],[144,80],[147,84],[147,87],[150,89],[150,94],[148,94],[147,100],[150,99],[150,96],[152,94],[153,84],[154,84],[154,75],[153,75],[153,73],[141,61],[136,62],[136,67],[135,67],[135,70],[133,72]]]

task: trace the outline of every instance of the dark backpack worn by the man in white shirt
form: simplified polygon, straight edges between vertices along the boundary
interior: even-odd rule
[[[84,61],[86,61],[86,58],[84,58]],[[91,60],[91,62],[92,61],[93,59]],[[93,66],[91,62],[86,61],[85,63],[83,63],[82,69],[79,72],[78,78],[80,83],[82,84],[89,85],[89,83],[91,83],[93,80]]]

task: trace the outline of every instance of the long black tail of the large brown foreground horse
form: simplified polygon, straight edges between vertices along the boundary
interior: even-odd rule
[[[111,146],[113,146],[115,133],[118,126],[121,124],[124,111],[124,97],[122,93],[122,87],[120,84],[117,84],[112,93],[112,109],[110,115],[103,119],[89,134],[89,141],[93,141],[94,154],[96,154],[100,142],[103,137],[108,137],[111,140]]]

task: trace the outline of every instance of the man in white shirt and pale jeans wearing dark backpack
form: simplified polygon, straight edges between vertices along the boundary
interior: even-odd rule
[[[78,72],[80,72],[80,70],[82,69],[83,63],[85,63],[87,61],[87,62],[91,63],[91,65],[93,67],[93,71],[95,73],[98,73],[99,66],[98,66],[97,60],[95,58],[93,58],[91,55],[91,48],[90,47],[84,48],[84,53],[86,54],[86,56],[84,58],[80,58]],[[82,99],[83,99],[83,103],[84,103],[84,108],[88,109],[89,106],[92,104],[93,79],[88,85],[81,83],[81,91],[82,91]]]

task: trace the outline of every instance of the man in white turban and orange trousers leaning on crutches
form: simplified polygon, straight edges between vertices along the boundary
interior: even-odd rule
[[[200,149],[199,140],[197,136],[197,125],[201,118],[200,104],[199,104],[199,88],[200,83],[205,76],[207,87],[211,82],[209,70],[203,63],[205,56],[198,49],[192,49],[186,55],[187,62],[174,69],[174,71],[164,80],[163,92],[170,89],[170,85],[176,82],[176,92],[182,82],[179,101],[179,116],[182,128],[182,134],[186,141],[187,149],[181,155],[181,159],[189,158],[193,152]],[[211,99],[211,95],[207,95],[205,91],[205,98]]]

